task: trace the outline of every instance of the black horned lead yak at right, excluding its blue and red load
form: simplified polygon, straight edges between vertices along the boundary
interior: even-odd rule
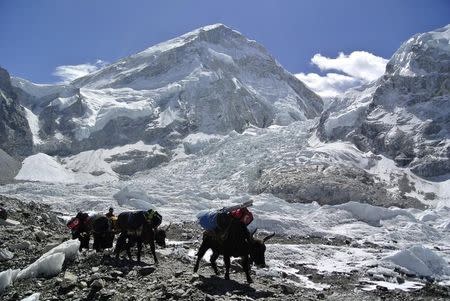
[[[252,283],[250,277],[250,265],[255,263],[257,266],[265,266],[265,242],[272,238],[275,233],[265,237],[264,239],[255,238],[256,229],[253,233],[249,233],[245,224],[238,219],[230,217],[225,222],[224,231],[205,231],[203,233],[203,241],[197,253],[197,262],[195,263],[194,273],[197,273],[200,260],[208,249],[211,249],[210,262],[216,275],[219,274],[216,260],[219,255],[223,255],[225,262],[225,279],[230,279],[230,257],[241,257],[242,267],[247,277],[247,282]],[[224,229],[224,228],[222,228]]]

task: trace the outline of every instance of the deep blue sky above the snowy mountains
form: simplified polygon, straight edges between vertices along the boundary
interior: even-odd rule
[[[57,82],[58,66],[114,62],[219,22],[263,44],[292,73],[324,76],[329,68],[320,71],[314,55],[324,61],[361,50],[389,58],[411,35],[449,23],[450,1],[1,0],[0,65]]]

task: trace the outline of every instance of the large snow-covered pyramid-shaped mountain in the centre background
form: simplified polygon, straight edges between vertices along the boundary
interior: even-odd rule
[[[318,117],[322,100],[259,44],[206,26],[69,85],[14,79],[29,109],[36,149],[65,155],[137,141],[171,146],[191,132]]]

